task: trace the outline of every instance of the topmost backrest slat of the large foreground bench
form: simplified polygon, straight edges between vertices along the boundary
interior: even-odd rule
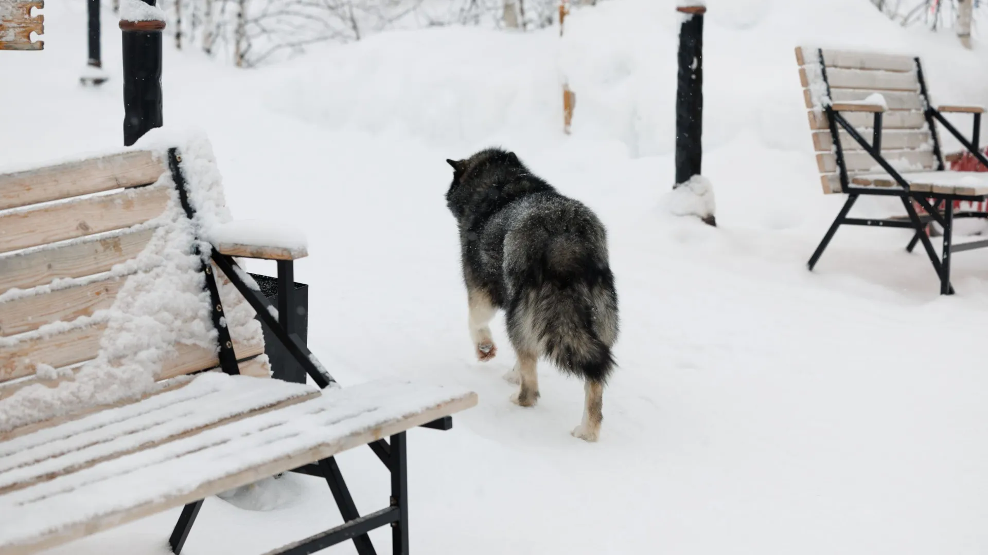
[[[150,151],[131,150],[0,174],[0,209],[149,185],[158,181],[164,171]]]

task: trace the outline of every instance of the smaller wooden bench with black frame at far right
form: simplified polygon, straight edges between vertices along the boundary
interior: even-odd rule
[[[945,171],[936,123],[943,124],[968,152],[988,165],[978,150],[983,110],[934,108],[918,57],[800,46],[796,61],[823,191],[848,195],[810,258],[809,269],[813,270],[841,225],[909,228],[915,234],[907,249],[911,252],[922,242],[941,280],[941,293],[952,293],[951,254],[988,247],[988,241],[952,243],[954,217],[988,216],[977,211],[955,213],[954,204],[988,198],[988,173]],[[972,138],[964,137],[944,114],[971,115]],[[900,198],[908,218],[848,217],[863,195]],[[914,203],[926,215],[918,213]],[[925,232],[930,220],[944,228],[940,257]]]

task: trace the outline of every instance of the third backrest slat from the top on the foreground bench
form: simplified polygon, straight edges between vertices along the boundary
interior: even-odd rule
[[[154,229],[124,230],[67,245],[47,245],[39,250],[0,256],[0,294],[17,287],[27,289],[59,278],[83,278],[110,271],[140,253]]]

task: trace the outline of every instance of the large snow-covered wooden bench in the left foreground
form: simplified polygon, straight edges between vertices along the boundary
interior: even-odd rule
[[[324,477],[345,523],[272,553],[373,553],[387,524],[407,553],[405,432],[449,429],[476,395],[337,386],[230,257],[304,246],[228,222],[202,138],[149,144],[0,174],[0,554],[184,506],[179,553],[204,498],[290,470]],[[318,388],[265,379],[255,314]],[[359,515],[333,455],[365,444],[391,498]]]

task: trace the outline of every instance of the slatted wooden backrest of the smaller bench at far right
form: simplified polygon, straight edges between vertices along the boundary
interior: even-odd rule
[[[939,167],[932,125],[926,116],[928,99],[921,86],[922,66],[918,58],[798,46],[796,62],[824,193],[842,192],[838,151],[844,155],[849,179],[881,172],[874,159],[843,129],[838,130],[834,140],[824,110],[831,103],[863,101],[874,93],[881,94],[888,105],[882,123],[881,151],[889,164],[902,171]],[[870,144],[873,116],[866,113],[843,116]]]

